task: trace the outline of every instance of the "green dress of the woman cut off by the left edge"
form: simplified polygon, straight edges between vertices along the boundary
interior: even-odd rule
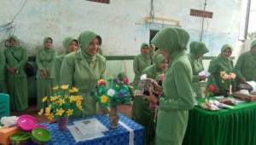
[[[0,49],[0,92],[6,91],[6,84],[5,84],[5,55],[4,51]]]

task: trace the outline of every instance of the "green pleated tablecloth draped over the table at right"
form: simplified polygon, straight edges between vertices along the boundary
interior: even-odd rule
[[[183,145],[256,145],[256,102],[219,111],[195,107]]]

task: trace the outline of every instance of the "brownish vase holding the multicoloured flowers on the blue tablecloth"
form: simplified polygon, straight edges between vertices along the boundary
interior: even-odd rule
[[[119,114],[117,112],[117,105],[110,106],[109,124],[111,129],[116,129],[119,123]]]

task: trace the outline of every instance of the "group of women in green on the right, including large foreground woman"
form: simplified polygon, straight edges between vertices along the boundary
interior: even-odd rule
[[[145,126],[145,144],[181,145],[189,110],[194,107],[194,97],[202,96],[201,88],[214,84],[214,95],[225,95],[226,88],[220,72],[236,73],[234,89],[237,84],[256,81],[256,40],[253,40],[251,49],[238,58],[236,67],[230,58],[232,46],[224,44],[218,57],[210,62],[208,72],[211,75],[208,78],[207,74],[200,73],[205,70],[201,58],[209,49],[206,44],[194,41],[189,44],[190,52],[187,55],[185,49],[189,43],[189,33],[185,30],[164,28],[156,34],[151,43],[159,49],[154,54],[154,64],[149,64],[149,53],[148,49],[144,50],[145,44],[141,47],[141,55],[135,57],[133,64],[135,86],[142,74],[157,80],[159,73],[165,73],[162,84],[163,96],[158,98],[150,92],[149,96],[134,98],[132,118]],[[167,68],[160,67],[160,64],[166,63],[164,60],[169,63],[166,64]],[[201,84],[201,81],[205,80],[207,85]],[[159,103],[156,121],[155,110],[150,109],[149,102]]]

